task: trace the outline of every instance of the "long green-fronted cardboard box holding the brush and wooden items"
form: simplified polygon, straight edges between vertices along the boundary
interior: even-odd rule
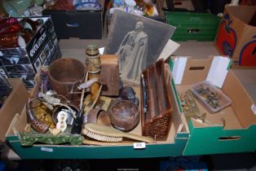
[[[167,64],[168,66],[168,64]],[[174,90],[171,86],[171,77],[169,75],[168,87],[172,98],[174,99]],[[139,96],[139,87],[135,88]],[[34,87],[32,96],[37,94],[38,85]],[[140,97],[138,97],[140,99]],[[163,157],[163,156],[181,156],[183,148],[188,140],[188,125],[185,124],[185,118],[179,114],[179,105],[173,102],[174,113],[170,132],[166,141],[157,141],[157,143],[146,144],[143,149],[135,149],[133,142],[130,145],[104,145],[104,146],[70,146],[70,145],[47,145],[34,144],[32,147],[22,147],[20,143],[19,132],[24,131],[27,124],[25,109],[20,115],[15,115],[7,134],[8,142],[12,149],[22,159],[109,159],[109,158],[143,158],[143,157]],[[141,123],[131,134],[142,134]]]

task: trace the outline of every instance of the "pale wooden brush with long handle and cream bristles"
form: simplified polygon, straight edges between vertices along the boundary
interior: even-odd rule
[[[122,138],[135,139],[137,141],[152,143],[152,138],[121,132],[112,127],[86,123],[82,129],[82,134],[102,142],[121,142]]]

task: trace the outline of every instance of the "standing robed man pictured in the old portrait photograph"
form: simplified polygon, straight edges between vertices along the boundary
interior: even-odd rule
[[[140,74],[147,64],[148,34],[143,32],[143,22],[126,34],[117,50],[121,79],[139,84]]]

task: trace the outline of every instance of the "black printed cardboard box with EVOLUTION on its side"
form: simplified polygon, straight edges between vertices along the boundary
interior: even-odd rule
[[[22,78],[26,87],[32,88],[35,77],[42,65],[49,65],[61,56],[60,46],[50,17],[42,19],[44,24],[38,28],[25,47],[0,49],[0,72],[6,77]]]

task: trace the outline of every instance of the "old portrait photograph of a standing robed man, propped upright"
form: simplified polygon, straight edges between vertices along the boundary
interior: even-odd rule
[[[104,54],[118,56],[122,81],[139,84],[141,72],[157,61],[174,30],[157,20],[116,10]]]

